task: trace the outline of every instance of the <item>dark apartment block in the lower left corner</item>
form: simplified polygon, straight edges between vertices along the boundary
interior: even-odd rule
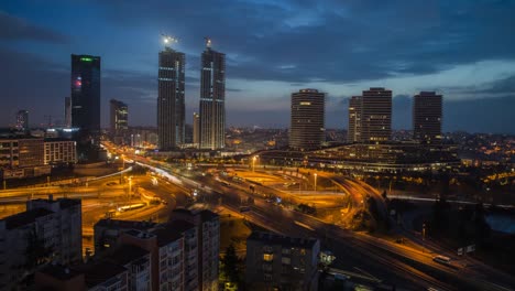
[[[28,276],[51,261],[80,261],[81,241],[80,200],[29,201],[25,212],[0,219],[0,285],[20,288]]]

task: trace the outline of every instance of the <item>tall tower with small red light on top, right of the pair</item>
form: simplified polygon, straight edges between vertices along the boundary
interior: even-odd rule
[[[226,147],[226,54],[207,39],[200,71],[200,149]]]

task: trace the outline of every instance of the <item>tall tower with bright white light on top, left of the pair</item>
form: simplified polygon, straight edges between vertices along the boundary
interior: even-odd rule
[[[165,39],[165,43],[169,42]],[[165,46],[160,52],[157,88],[157,136],[158,148],[171,150],[184,143],[185,129],[185,65],[184,53]]]

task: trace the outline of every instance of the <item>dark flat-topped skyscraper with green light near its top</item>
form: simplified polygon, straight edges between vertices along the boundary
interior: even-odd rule
[[[72,55],[72,126],[100,130],[100,56]]]

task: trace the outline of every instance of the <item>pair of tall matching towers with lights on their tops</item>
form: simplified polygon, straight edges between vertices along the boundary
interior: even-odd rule
[[[185,66],[186,57],[167,44],[160,52],[157,93],[157,134],[160,150],[173,150],[185,144]],[[200,104],[198,131],[194,140],[200,149],[224,148],[226,137],[226,55],[211,48],[206,39],[201,55]]]

